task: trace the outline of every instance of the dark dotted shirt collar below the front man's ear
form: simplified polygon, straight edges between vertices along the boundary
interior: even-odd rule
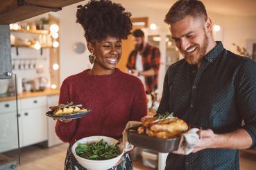
[[[223,53],[224,48],[221,41],[216,41],[216,43],[217,45],[203,57],[204,60],[212,62]]]

